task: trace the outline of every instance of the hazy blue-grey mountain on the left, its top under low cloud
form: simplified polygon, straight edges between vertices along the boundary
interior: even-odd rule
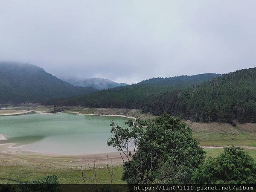
[[[42,102],[93,91],[93,87],[75,87],[35,65],[0,63],[0,103]]]

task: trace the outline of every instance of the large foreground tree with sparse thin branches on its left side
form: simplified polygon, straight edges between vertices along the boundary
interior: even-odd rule
[[[155,120],[137,119],[128,128],[111,123],[108,145],[123,159],[122,179],[127,183],[191,183],[193,170],[205,152],[191,129],[167,113]]]

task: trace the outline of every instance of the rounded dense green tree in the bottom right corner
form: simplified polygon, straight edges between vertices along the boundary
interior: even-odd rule
[[[242,148],[224,148],[218,157],[202,163],[192,180],[201,184],[256,183],[256,163]]]

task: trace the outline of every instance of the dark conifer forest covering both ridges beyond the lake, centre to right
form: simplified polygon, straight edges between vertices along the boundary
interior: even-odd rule
[[[134,108],[154,115],[167,112],[196,122],[256,122],[256,68],[223,74],[183,89],[135,84],[44,104]]]

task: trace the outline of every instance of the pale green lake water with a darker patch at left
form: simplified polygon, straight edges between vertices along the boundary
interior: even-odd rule
[[[0,134],[17,143],[20,150],[54,154],[94,154],[115,151],[108,147],[111,121],[125,126],[119,116],[75,115],[67,113],[0,116]]]

